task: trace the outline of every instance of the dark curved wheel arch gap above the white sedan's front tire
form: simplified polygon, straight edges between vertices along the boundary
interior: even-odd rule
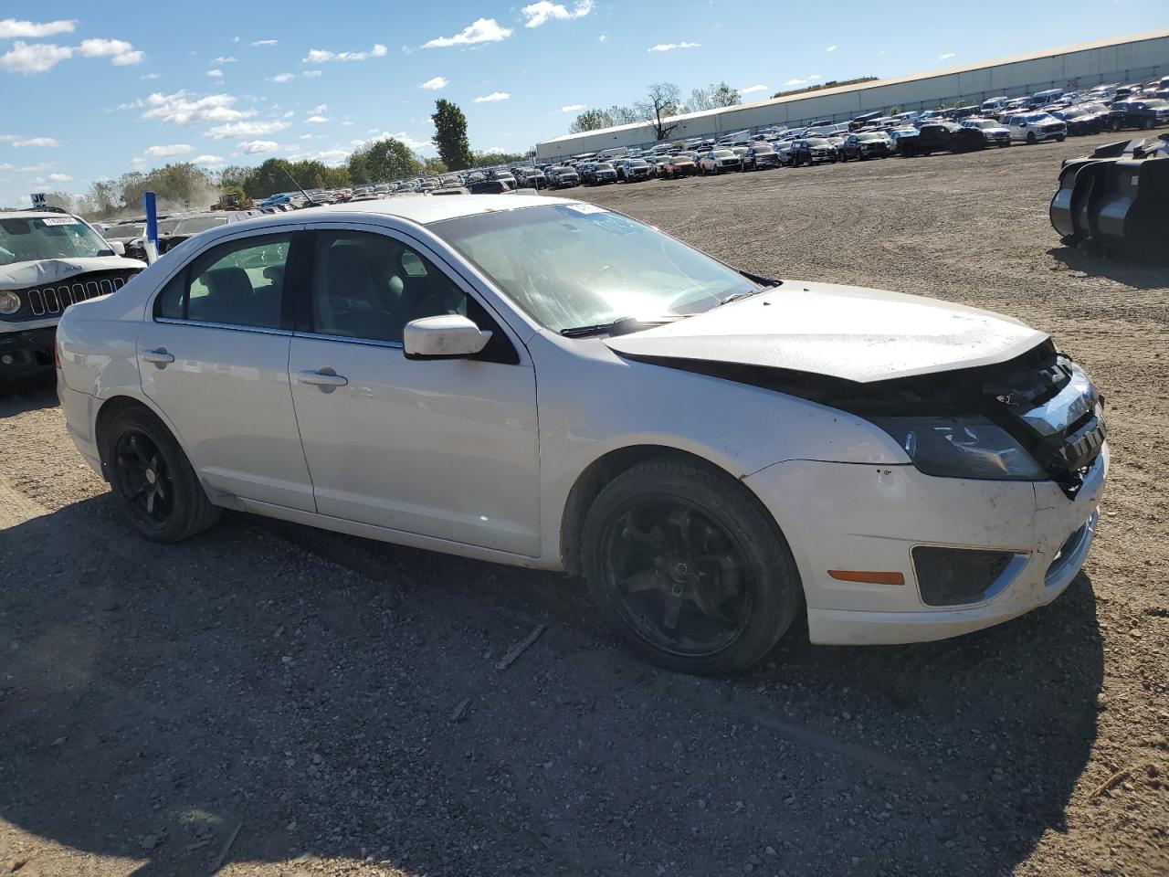
[[[602,454],[589,463],[576,477],[560,516],[560,557],[563,568],[570,575],[581,573],[581,536],[584,530],[584,517],[594,500],[604,486],[622,472],[648,460],[667,460],[691,465],[720,475],[738,483],[763,510],[768,520],[781,538],[783,536],[779,523],[767,511],[763,502],[739,478],[725,467],[689,450],[666,444],[629,444]]]

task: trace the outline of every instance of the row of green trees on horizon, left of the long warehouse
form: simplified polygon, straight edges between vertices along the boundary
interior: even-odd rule
[[[216,173],[189,161],[181,161],[152,171],[131,171],[117,179],[98,180],[78,199],[77,208],[79,213],[94,219],[106,219],[126,212],[137,214],[141,212],[143,194],[154,192],[159,209],[174,212],[188,207],[209,207],[223,193],[258,200],[278,192],[293,191],[297,185],[305,189],[340,188],[516,164],[527,158],[523,154],[472,151],[466,136],[466,117],[450,101],[436,101],[430,119],[435,125],[431,141],[438,151],[437,158],[423,158],[401,140],[387,137],[354,150],[337,167],[317,160],[270,158],[258,167],[230,166]],[[60,200],[65,202],[63,206],[71,207],[68,195],[62,193]]]

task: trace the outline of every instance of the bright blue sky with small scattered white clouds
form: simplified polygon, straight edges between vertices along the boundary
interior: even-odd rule
[[[385,133],[434,154],[437,97],[473,149],[523,151],[651,82],[758,99],[1167,22],[1164,0],[5,0],[0,205],[175,160],[337,164]]]

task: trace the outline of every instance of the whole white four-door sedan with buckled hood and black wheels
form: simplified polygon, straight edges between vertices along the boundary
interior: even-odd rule
[[[221,509],[582,573],[643,656],[741,671],[1054,600],[1108,467],[1052,340],[758,277],[620,213],[414,196],[177,247],[57,333],[81,453],[150,539]]]

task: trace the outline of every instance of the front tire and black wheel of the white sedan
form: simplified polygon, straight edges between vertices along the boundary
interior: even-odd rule
[[[614,478],[584,518],[581,548],[602,617],[667,670],[743,672],[801,607],[795,560],[767,511],[741,484],[692,463],[651,460]]]

